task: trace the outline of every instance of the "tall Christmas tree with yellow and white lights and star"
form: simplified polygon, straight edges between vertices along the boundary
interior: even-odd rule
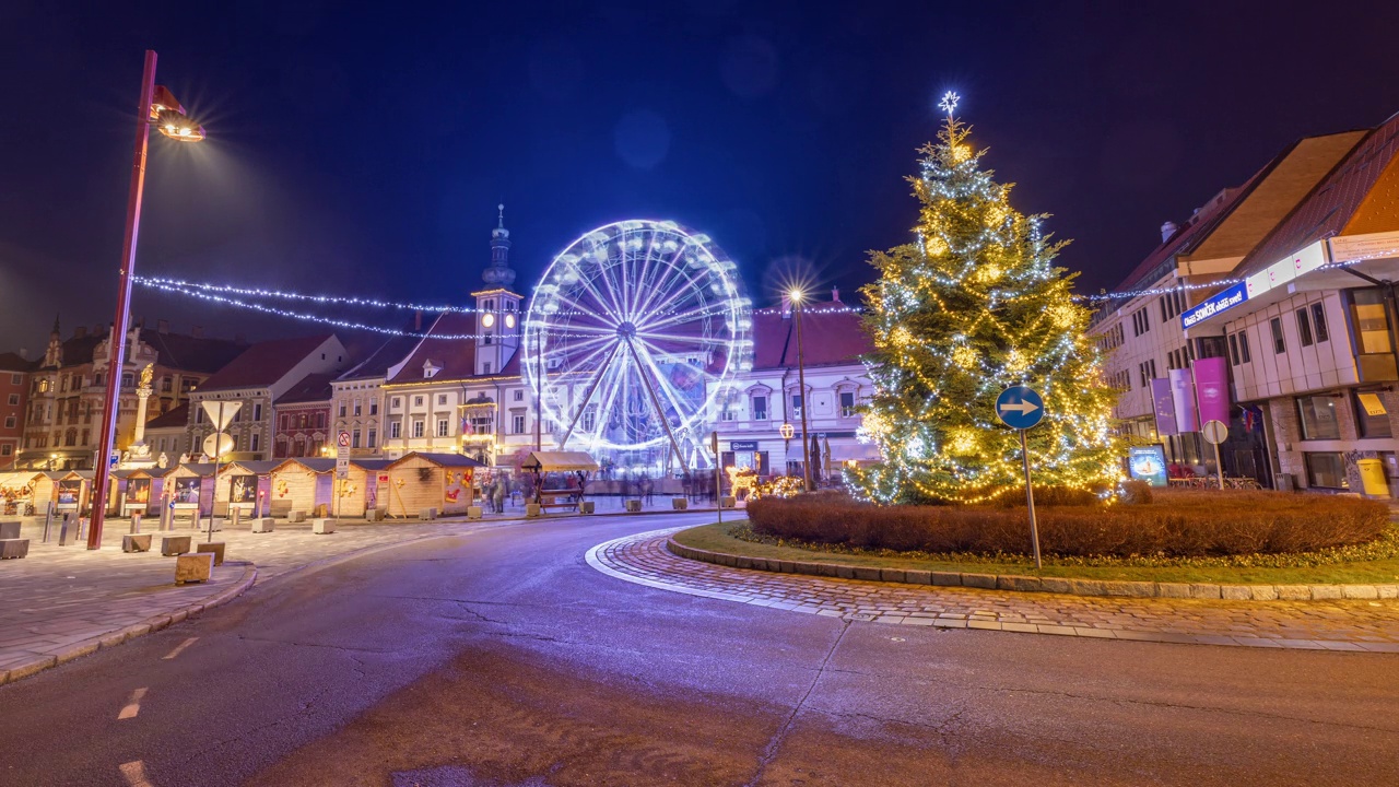
[[[874,339],[874,395],[863,430],[881,465],[852,473],[879,503],[977,503],[1023,494],[1020,438],[995,416],[996,396],[1028,385],[1045,401],[1030,430],[1035,486],[1114,487],[1121,450],[1109,431],[1116,392],[1088,337],[1090,311],[1052,266],[1063,242],[1044,216],[1010,207],[1010,185],[981,168],[970,129],[953,119],[911,176],[922,203],[914,244],[874,252],[880,279],[862,293]]]

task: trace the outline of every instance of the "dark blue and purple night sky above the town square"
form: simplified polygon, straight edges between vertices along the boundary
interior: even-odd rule
[[[1287,143],[1399,111],[1392,3],[340,6],[0,1],[0,351],[112,319],[147,48],[210,140],[152,134],[140,273],[403,300],[478,288],[498,202],[520,290],[656,217],[758,304],[792,274],[853,300],[946,90],[1097,291]],[[133,315],[320,330],[140,288]]]

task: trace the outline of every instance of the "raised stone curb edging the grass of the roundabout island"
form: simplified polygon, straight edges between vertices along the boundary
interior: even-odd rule
[[[1073,580],[1065,577],[1027,577],[1021,574],[975,574],[956,571],[919,571],[904,569],[874,569],[842,563],[809,563],[804,560],[764,560],[725,552],[695,549],[666,539],[666,550],[677,557],[700,560],[716,566],[734,566],[783,574],[810,574],[905,585],[951,585],[965,588],[1003,590],[1017,592],[1059,592],[1067,595],[1104,595],[1128,598],[1196,598],[1228,601],[1339,601],[1399,598],[1399,584],[1354,585],[1226,585],[1212,583],[1137,583],[1118,580]]]

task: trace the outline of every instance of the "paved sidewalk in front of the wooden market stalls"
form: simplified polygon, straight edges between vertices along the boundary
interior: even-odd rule
[[[161,535],[207,535],[190,529],[154,532],[151,552],[123,553],[126,521],[109,521],[102,549],[84,543],[41,543],[42,521],[24,525],[31,539],[29,556],[0,560],[0,683],[111,647],[171,622],[182,620],[206,605],[232,598],[256,581],[263,583],[337,556],[435,535],[470,532],[473,522],[341,524],[330,535],[313,535],[309,524],[278,520],[270,534],[217,531],[227,562],[214,569],[210,583],[175,585],[175,559],[159,555]],[[491,527],[491,525],[484,525]],[[144,528],[145,532],[152,532]]]

